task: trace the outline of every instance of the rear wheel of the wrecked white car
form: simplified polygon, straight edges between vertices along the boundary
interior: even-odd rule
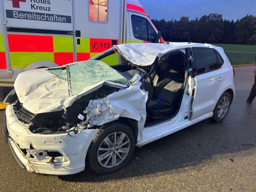
[[[231,105],[230,94],[228,92],[224,92],[220,96],[220,99],[218,100],[218,102],[213,110],[213,116],[210,119],[216,123],[220,123],[221,121],[223,121],[226,118],[226,116],[228,115],[230,105]],[[220,107],[224,106],[224,107],[219,108],[219,106]]]

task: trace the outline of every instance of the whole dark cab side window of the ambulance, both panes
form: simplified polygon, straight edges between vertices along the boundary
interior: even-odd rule
[[[137,15],[132,15],[131,19],[132,32],[136,39],[156,43],[156,31],[147,19]]]

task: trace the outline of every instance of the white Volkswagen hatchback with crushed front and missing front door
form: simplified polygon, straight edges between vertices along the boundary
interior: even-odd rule
[[[120,65],[101,59],[122,55]],[[120,44],[88,61],[25,71],[4,102],[3,132],[30,172],[123,167],[141,147],[204,119],[221,122],[234,70],[210,44]]]

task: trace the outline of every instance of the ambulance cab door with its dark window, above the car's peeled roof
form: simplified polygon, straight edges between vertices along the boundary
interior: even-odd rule
[[[128,43],[157,43],[157,30],[146,15],[129,11],[129,26]]]

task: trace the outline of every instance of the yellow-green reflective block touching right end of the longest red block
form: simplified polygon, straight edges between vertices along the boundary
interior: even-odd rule
[[[53,36],[54,52],[73,52],[73,37]]]

